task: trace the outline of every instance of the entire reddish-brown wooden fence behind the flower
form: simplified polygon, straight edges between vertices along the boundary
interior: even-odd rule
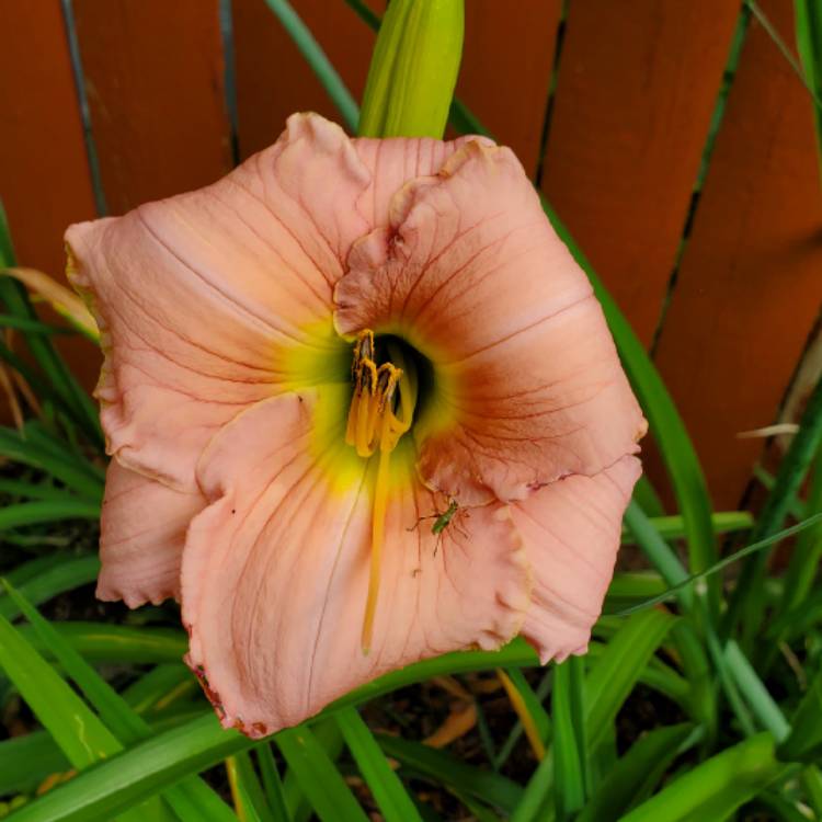
[[[358,98],[373,34],[344,0],[294,5]],[[695,195],[740,0],[466,5],[458,94],[572,229],[735,506],[763,445],[737,433],[777,419],[822,301],[809,92],[752,20]],[[792,0],[760,5],[792,47]],[[208,183],[293,111],[335,116],[264,0],[0,0],[0,196],[21,263],[57,277],[69,222]]]

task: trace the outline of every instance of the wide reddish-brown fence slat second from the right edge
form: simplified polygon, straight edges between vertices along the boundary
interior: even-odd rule
[[[650,343],[739,0],[572,2],[543,190]]]

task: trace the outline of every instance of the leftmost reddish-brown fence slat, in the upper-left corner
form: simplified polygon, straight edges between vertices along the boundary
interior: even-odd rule
[[[0,0],[0,197],[20,262],[61,276],[62,232],[94,216],[59,0]]]

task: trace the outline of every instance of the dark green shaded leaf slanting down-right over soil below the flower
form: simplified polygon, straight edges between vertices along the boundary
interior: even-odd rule
[[[467,765],[455,756],[419,742],[375,734],[379,746],[414,774],[460,794],[481,799],[509,814],[522,797],[522,788],[500,774]]]

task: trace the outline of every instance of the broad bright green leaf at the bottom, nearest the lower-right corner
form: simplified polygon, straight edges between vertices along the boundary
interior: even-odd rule
[[[774,757],[773,737],[760,733],[670,783],[621,822],[723,820],[791,769]]]

